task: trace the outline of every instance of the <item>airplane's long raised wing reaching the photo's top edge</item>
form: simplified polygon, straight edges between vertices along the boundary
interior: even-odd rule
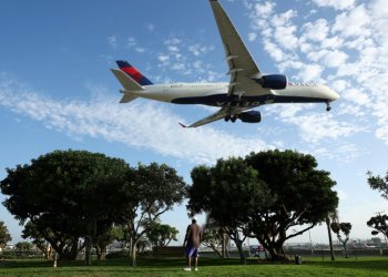
[[[218,31],[224,44],[226,61],[229,66],[231,85],[228,95],[270,93],[263,89],[253,78],[261,78],[262,72],[244,44],[236,28],[217,0],[210,0]]]

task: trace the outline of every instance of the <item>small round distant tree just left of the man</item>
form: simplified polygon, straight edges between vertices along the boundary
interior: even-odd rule
[[[154,222],[151,225],[150,230],[146,233],[146,236],[153,246],[163,247],[167,246],[171,240],[177,242],[177,233],[180,232],[175,227]]]

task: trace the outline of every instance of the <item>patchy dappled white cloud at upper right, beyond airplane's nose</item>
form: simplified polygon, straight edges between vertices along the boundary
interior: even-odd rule
[[[334,124],[333,119],[324,124],[335,131],[330,140],[350,138],[354,129],[355,133],[371,132],[388,145],[388,91],[382,89],[388,88],[385,1],[358,4],[354,0],[314,0],[318,7],[335,9],[330,20],[319,18],[319,13],[310,17],[309,11],[302,14],[304,10],[297,8],[294,10],[298,10],[298,14],[294,10],[284,12],[273,2],[261,2],[256,6],[258,9],[251,6],[248,33],[259,33],[255,41],[263,43],[280,72],[298,81],[326,83],[341,95],[336,102],[337,109],[331,111],[337,123]],[[245,6],[249,8],[248,3]],[[261,14],[259,9],[264,7],[267,12]],[[300,18],[304,23],[298,22]],[[305,124],[317,119],[303,116],[306,115],[298,113],[285,124],[300,121],[305,126],[299,130],[303,137],[325,138],[323,130],[308,130]]]

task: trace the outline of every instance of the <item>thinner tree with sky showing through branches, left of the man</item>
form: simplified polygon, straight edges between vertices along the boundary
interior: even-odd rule
[[[176,171],[165,164],[139,164],[135,178],[136,201],[122,209],[129,228],[132,266],[136,266],[139,242],[151,232],[160,216],[186,197],[186,184]]]

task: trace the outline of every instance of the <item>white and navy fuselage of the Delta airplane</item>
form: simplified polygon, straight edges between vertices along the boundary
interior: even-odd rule
[[[229,101],[228,83],[171,83],[143,86],[141,91],[124,91],[132,95],[176,104],[203,104],[224,106]],[[258,88],[263,91],[262,88]],[[315,83],[288,83],[284,90],[266,90],[267,93],[241,94],[243,106],[258,106],[270,103],[329,103],[339,95],[326,85]]]

